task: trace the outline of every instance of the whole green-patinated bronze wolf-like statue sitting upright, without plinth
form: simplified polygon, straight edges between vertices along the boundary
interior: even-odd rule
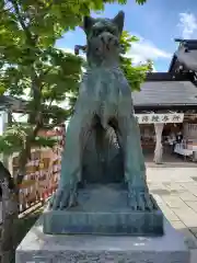
[[[109,168],[109,183],[118,181],[118,178],[125,181],[130,207],[135,210],[152,209],[131,89],[119,67],[123,27],[123,12],[113,20],[84,18],[89,66],[67,129],[59,186],[51,202],[55,210],[78,205],[80,182],[107,182],[103,179],[107,176],[108,170],[104,172],[101,168]],[[113,136],[108,133],[112,128]],[[117,139],[117,147],[114,138]],[[94,141],[94,147],[91,141]],[[94,157],[97,162],[93,161]],[[117,164],[118,161],[117,169],[114,162]],[[93,168],[93,163],[97,167]],[[85,167],[89,174],[85,174]]]

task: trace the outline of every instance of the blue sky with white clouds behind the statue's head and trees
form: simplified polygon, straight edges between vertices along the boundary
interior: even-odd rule
[[[144,5],[129,0],[126,5],[106,4],[103,13],[92,16],[114,18],[119,10],[126,14],[125,30],[140,38],[128,56],[136,64],[152,59],[157,71],[167,71],[177,46],[174,38],[197,38],[197,0],[148,0]],[[84,33],[77,28],[59,39],[57,47],[71,52],[83,44]]]

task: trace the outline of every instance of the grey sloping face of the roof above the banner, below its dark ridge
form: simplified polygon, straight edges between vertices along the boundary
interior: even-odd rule
[[[135,107],[194,105],[197,108],[197,87],[190,81],[146,81],[140,92],[132,92]]]

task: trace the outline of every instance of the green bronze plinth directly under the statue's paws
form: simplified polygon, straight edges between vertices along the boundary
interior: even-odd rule
[[[120,184],[92,184],[78,192],[78,206],[44,211],[44,232],[162,236],[163,214],[152,199],[152,210],[134,210]]]

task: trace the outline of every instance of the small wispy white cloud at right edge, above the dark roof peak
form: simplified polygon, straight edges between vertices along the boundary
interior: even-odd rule
[[[178,27],[182,31],[183,38],[197,37],[197,18],[193,13],[179,13]]]

